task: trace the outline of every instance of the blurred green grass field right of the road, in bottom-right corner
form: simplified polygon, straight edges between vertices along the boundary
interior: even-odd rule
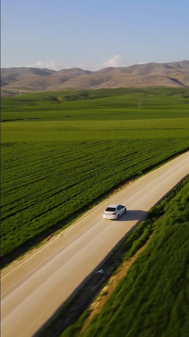
[[[189,182],[154,210],[152,239],[82,336],[188,336]],[[80,321],[62,337],[80,336]]]

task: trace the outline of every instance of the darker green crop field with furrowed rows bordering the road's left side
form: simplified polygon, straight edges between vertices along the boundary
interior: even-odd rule
[[[188,147],[188,139],[2,144],[1,256]]]

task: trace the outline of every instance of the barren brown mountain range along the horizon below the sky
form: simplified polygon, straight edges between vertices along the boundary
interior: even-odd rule
[[[40,68],[2,68],[1,92],[100,89],[118,87],[188,87],[189,61],[135,64],[97,71],[79,68],[58,71]]]

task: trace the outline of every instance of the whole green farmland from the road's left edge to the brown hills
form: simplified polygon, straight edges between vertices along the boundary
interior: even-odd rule
[[[28,249],[122,182],[188,149],[188,92],[119,88],[2,98],[1,256]]]

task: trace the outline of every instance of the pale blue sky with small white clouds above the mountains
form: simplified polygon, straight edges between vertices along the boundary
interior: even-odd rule
[[[189,59],[189,1],[2,0],[1,67]]]

